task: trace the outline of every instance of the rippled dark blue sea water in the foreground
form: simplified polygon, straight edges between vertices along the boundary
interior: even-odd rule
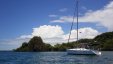
[[[0,64],[113,64],[113,52],[101,56],[66,52],[0,52]]]

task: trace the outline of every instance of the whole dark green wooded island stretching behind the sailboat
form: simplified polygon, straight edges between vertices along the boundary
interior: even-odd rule
[[[81,43],[85,43],[91,49],[101,51],[113,51],[113,32],[106,32],[97,35],[94,39],[80,39],[77,41],[56,44],[54,46],[44,43],[42,38],[34,36],[29,42],[24,42],[22,45],[15,49],[16,52],[45,52],[45,51],[66,51],[69,48],[75,48]]]

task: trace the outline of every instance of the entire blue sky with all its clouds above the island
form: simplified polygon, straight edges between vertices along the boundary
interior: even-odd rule
[[[67,42],[76,0],[0,0],[0,50],[15,49],[33,36]],[[76,10],[75,10],[76,11]],[[79,0],[79,39],[113,31],[113,0]],[[76,16],[70,41],[76,41]]]

